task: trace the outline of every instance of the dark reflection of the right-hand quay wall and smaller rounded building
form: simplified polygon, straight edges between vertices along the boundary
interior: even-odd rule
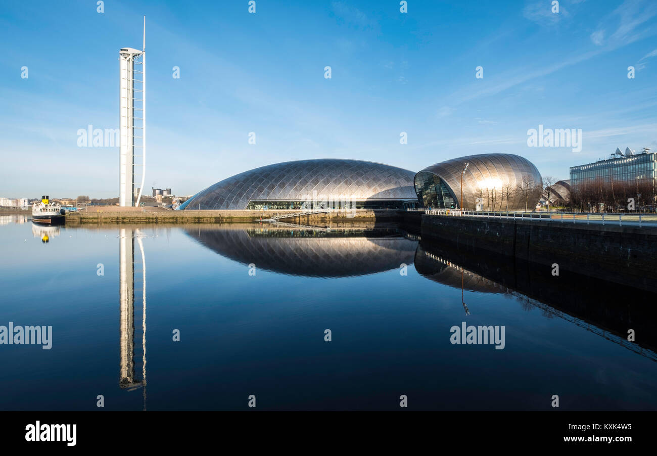
[[[451,260],[457,259],[457,260]],[[466,269],[476,269],[485,275]],[[643,290],[620,288],[599,283],[587,277],[562,277],[559,286],[545,268],[530,263],[509,261],[484,251],[459,251],[445,244],[420,242],[415,254],[415,269],[431,281],[464,292],[509,294],[524,309],[540,309],[547,317],[560,317],[574,325],[591,331],[657,361],[657,337],[655,337],[655,311],[648,303],[654,302],[654,294]],[[493,277],[490,279],[489,277]],[[506,285],[505,285],[506,284]],[[586,291],[582,290],[586,284]],[[600,291],[598,291],[600,290]],[[627,296],[637,298],[627,303]],[[635,305],[633,305],[635,304]],[[643,305],[648,304],[648,305]],[[641,331],[641,342],[629,342],[627,329]]]

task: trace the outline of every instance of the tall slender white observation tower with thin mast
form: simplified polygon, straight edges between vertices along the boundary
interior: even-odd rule
[[[119,51],[119,68],[119,206],[132,207],[139,206],[146,166],[146,16],[141,51],[123,47]],[[141,177],[137,195],[136,175]]]

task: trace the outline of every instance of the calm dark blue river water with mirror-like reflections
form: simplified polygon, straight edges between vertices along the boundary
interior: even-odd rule
[[[657,409],[654,295],[400,227],[3,216],[0,252],[0,331],[52,327],[0,344],[3,410]]]

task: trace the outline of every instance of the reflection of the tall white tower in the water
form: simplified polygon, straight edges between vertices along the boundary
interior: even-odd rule
[[[120,380],[125,390],[142,388],[146,410],[146,261],[143,235],[139,229],[122,228],[119,233]],[[135,240],[139,247],[135,263]],[[141,266],[141,270],[138,269]],[[140,274],[141,273],[141,274]],[[141,379],[135,376],[135,295],[141,292]],[[139,341],[138,341],[139,342]],[[137,346],[138,347],[138,346]]]

